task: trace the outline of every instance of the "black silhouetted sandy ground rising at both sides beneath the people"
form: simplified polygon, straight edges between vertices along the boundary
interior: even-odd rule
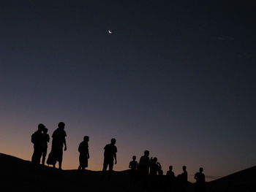
[[[244,171],[230,174],[219,180],[207,183],[207,191],[256,191],[256,166]],[[0,153],[1,191],[166,191],[164,187],[143,188],[141,183],[133,186],[129,179],[129,170],[113,172],[110,180],[102,178],[102,172],[86,170],[54,169],[49,166],[32,164],[10,155]],[[158,177],[158,182],[165,176]],[[187,191],[194,191],[194,185],[189,183]]]

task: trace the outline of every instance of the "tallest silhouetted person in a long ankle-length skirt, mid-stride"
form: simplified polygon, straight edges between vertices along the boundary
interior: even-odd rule
[[[59,162],[59,169],[61,169],[62,164],[62,156],[63,156],[63,145],[64,150],[67,150],[67,144],[66,144],[66,138],[67,134],[66,131],[64,131],[65,123],[60,122],[58,124],[58,128],[53,132],[53,142],[52,142],[52,148],[51,148],[51,155],[53,159]],[[49,154],[50,155],[50,154]],[[55,164],[53,164],[54,167]]]

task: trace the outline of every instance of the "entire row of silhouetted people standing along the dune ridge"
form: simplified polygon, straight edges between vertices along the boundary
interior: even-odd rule
[[[46,164],[53,165],[56,167],[56,162],[59,162],[59,169],[61,169],[62,157],[63,157],[63,147],[67,150],[66,143],[66,131],[64,131],[65,123],[60,122],[58,128],[53,131],[52,135],[52,146]],[[40,164],[42,158],[42,164],[45,165],[45,158],[48,150],[48,142],[50,142],[50,137],[48,135],[48,128],[46,128],[42,123],[38,125],[37,131],[31,135],[31,142],[34,144],[34,153],[32,155],[31,161],[35,164]],[[80,142],[78,146],[79,155],[79,166],[78,170],[83,170],[88,167],[89,155],[89,136],[83,137],[83,142]],[[104,162],[102,172],[106,172],[107,169],[111,172],[113,170],[113,165],[117,164],[116,160],[116,139],[111,139],[110,144],[104,147]],[[140,157],[140,161],[136,161],[136,156],[132,156],[132,161],[129,162],[130,176],[132,184],[135,185],[138,181],[142,181],[145,185],[150,183],[152,187],[157,185],[165,185],[167,191],[186,191],[187,188],[187,167],[183,166],[183,172],[178,174],[177,177],[173,172],[173,166],[169,166],[169,170],[166,172],[165,181],[158,180],[157,178],[162,177],[163,171],[161,164],[157,161],[157,158],[149,158],[149,151],[145,150],[144,155]],[[157,177],[158,175],[158,177]],[[205,175],[203,174],[203,168],[200,167],[199,172],[195,174],[195,189],[198,192],[204,191],[205,188]]]

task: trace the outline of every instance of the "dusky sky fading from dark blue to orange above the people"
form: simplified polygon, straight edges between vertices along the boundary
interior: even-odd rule
[[[189,180],[255,166],[253,1],[0,2],[0,152],[31,159],[31,134],[66,123],[63,168],[101,170],[115,137],[128,169],[144,150]],[[112,30],[113,34],[108,34]],[[51,142],[51,140],[50,140]],[[49,144],[50,148],[51,143]]]

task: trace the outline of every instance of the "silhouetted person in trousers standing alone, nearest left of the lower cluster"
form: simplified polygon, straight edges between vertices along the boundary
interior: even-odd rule
[[[117,148],[116,148],[116,139],[111,139],[110,144],[106,145],[104,147],[104,163],[103,163],[103,169],[102,171],[105,172],[107,168],[112,171],[113,170],[113,164],[115,160],[115,164],[117,163],[116,161],[116,153],[117,153]]]

